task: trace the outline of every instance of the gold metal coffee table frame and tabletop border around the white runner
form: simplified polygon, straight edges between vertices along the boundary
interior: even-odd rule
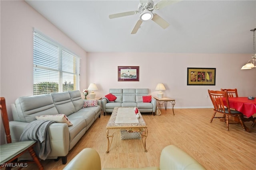
[[[133,107],[131,107],[131,108],[133,108]],[[107,130],[106,137],[108,140],[108,147],[107,147],[106,153],[108,153],[110,150],[114,134],[121,130],[127,130],[128,132],[131,132],[131,133],[139,132],[144,150],[145,150],[145,152],[148,152],[146,149],[146,138],[148,136],[148,126],[146,125],[145,121],[143,120],[140,112],[138,113],[138,114],[140,114],[140,118],[138,118],[139,123],[117,123],[116,124],[115,120],[116,120],[117,112],[118,112],[118,107],[115,107],[111,114],[111,117],[108,121],[108,124],[106,126],[106,130]],[[110,134],[110,130],[113,130],[112,134]],[[110,137],[111,137],[111,140],[109,139]]]

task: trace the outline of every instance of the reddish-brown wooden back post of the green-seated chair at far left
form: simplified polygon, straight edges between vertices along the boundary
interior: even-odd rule
[[[5,103],[4,97],[0,98],[0,109],[1,109],[2,122],[4,125],[4,131],[6,134],[7,143],[12,143],[12,139],[11,139],[11,135],[10,135],[9,119],[8,119],[8,114],[7,114],[6,103]]]

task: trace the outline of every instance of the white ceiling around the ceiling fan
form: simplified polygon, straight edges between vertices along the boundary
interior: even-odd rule
[[[250,29],[256,28],[256,0],[182,0],[153,11],[170,23],[168,28],[150,20],[134,35],[130,33],[139,14],[108,15],[136,11],[139,0],[26,2],[87,52],[253,52]]]

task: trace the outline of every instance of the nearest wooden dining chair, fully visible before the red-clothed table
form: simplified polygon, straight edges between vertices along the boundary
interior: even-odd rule
[[[244,125],[244,121],[243,121],[244,114],[237,110],[230,109],[227,91],[208,90],[208,94],[209,94],[210,99],[212,100],[212,104],[214,106],[214,109],[213,109],[214,113],[212,115],[210,123],[212,123],[212,120],[214,118],[221,119],[222,121],[226,122],[226,130],[228,131],[229,124],[238,124],[238,122],[230,120],[229,116],[236,116],[236,117],[238,117],[242,128],[245,130],[245,125]],[[226,101],[225,105],[223,104],[223,100]],[[223,116],[215,117],[216,113],[221,113]]]

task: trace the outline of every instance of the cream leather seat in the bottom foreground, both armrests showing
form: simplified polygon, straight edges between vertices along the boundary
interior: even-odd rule
[[[85,148],[63,170],[206,170],[206,168],[183,150],[169,145],[161,152],[159,166],[102,169],[98,152],[92,148]]]

